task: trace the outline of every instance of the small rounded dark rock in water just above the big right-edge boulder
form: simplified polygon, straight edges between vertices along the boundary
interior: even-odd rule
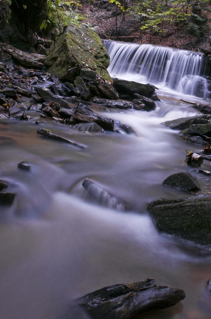
[[[195,177],[193,177],[190,173],[176,173],[168,176],[162,184],[164,186],[177,188],[180,190],[199,190],[200,185]]]

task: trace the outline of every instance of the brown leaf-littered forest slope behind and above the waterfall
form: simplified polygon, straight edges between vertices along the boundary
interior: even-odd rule
[[[94,30],[101,36],[101,38],[116,38],[116,5],[105,3],[103,1],[94,4],[85,3],[82,5],[81,12],[87,18],[85,22],[92,25]],[[208,21],[211,18],[211,5],[207,4],[206,10],[202,11],[203,17]],[[123,14],[117,16],[117,30],[118,40],[133,43],[149,43],[167,46],[171,48],[187,49],[193,51],[200,51],[200,48],[209,47],[208,35],[206,35],[206,28],[204,33],[198,36],[191,36],[184,30],[182,24],[177,26],[169,26],[167,23],[163,25],[165,32],[162,34],[152,33],[149,31],[142,32],[142,39],[140,38],[140,29],[135,26],[133,16],[125,12],[125,21],[123,21]],[[120,9],[118,10],[120,13]],[[123,38],[128,37],[128,38]]]

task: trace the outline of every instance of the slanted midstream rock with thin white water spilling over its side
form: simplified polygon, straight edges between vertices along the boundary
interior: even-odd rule
[[[127,204],[122,198],[110,194],[95,182],[92,182],[87,178],[82,183],[82,186],[87,190],[89,199],[97,202],[98,204],[114,208],[119,211],[128,211],[130,209],[129,204]]]

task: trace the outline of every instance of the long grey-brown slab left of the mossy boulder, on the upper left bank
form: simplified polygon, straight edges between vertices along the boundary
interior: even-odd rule
[[[9,44],[4,45],[3,52],[13,56],[20,64],[24,66],[40,69],[45,61],[44,56],[37,53],[28,53],[18,50]]]

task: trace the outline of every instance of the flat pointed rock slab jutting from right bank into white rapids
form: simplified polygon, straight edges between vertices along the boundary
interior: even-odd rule
[[[207,124],[210,123],[211,115],[197,115],[191,117],[181,117],[179,119],[166,121],[163,125],[173,130],[185,130],[193,124]]]

